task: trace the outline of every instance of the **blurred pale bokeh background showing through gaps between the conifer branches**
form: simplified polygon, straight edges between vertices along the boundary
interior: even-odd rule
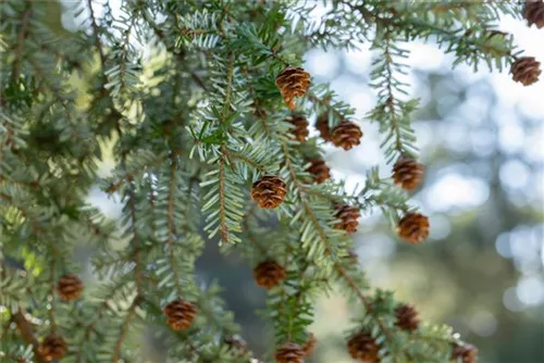
[[[51,24],[63,36],[81,32],[71,17],[70,1],[62,4],[42,3]],[[529,51],[527,45],[536,48],[539,42],[542,48],[543,37],[531,34],[534,38],[524,34],[522,48]],[[361,118],[373,100],[366,87],[368,52],[364,46],[353,53],[314,50],[305,64],[317,80],[331,82],[341,97],[357,107]],[[417,85],[415,95],[422,101],[415,128],[428,170],[413,200],[431,217],[431,238],[422,246],[401,245],[382,216],[366,215],[355,237],[359,262],[374,286],[395,290],[399,299],[419,306],[425,320],[450,324],[463,340],[477,345],[480,362],[544,362],[544,98],[509,102],[521,88],[508,75],[469,76],[462,67],[452,71],[447,59],[436,63],[434,58],[429,66],[423,63],[433,62],[432,47],[415,53],[419,55],[410,83]],[[91,75],[92,70],[86,70],[74,75],[73,83],[88,88]],[[544,82],[523,95],[530,93],[544,95]],[[81,102],[85,105],[85,97]],[[364,120],[361,125],[366,133],[361,147],[347,157],[330,148],[326,155],[333,175],[351,184],[363,182],[371,165],[385,166],[376,127]],[[111,150],[104,146],[103,151],[101,173],[107,174]],[[89,201],[113,218],[119,215],[120,206],[98,188],[91,190]],[[74,259],[88,261],[90,253],[82,247]],[[29,266],[32,259],[28,255]],[[92,277],[87,266],[89,286]],[[265,292],[254,283],[250,266],[236,253],[220,254],[210,241],[198,261],[198,273],[202,284],[221,284],[250,348],[264,352],[264,341],[270,341],[264,336],[271,331],[256,310],[264,306]],[[316,316],[319,343],[312,362],[351,362],[342,330],[351,317],[346,301],[334,295],[323,298]],[[159,345],[146,346],[152,360]]]

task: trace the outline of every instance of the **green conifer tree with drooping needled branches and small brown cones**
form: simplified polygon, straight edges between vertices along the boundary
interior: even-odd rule
[[[168,362],[301,363],[319,345],[316,298],[335,286],[359,316],[345,327],[355,360],[477,361],[449,327],[369,286],[351,234],[370,212],[413,248],[432,228],[409,204],[424,166],[410,126],[418,101],[398,80],[404,45],[434,41],[455,64],[509,68],[530,86],[539,61],[497,23],[508,14],[542,28],[542,1],[332,0],[314,22],[311,1],[120,0],[114,10],[85,0],[70,10],[73,32],[51,22],[52,3],[0,4],[2,361],[137,362],[151,329]],[[372,45],[378,101],[356,120],[302,57],[360,42]],[[347,192],[322,146],[349,152],[370,122],[391,177],[373,167]],[[110,149],[115,165],[102,177]],[[96,185],[122,202],[120,221],[88,204]],[[220,287],[197,279],[205,242],[242,253],[268,290],[268,356],[238,336]],[[77,246],[95,251],[98,286],[83,283]]]

